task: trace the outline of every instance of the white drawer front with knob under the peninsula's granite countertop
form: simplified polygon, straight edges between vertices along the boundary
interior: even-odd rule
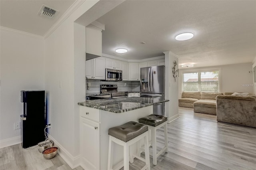
[[[100,122],[100,110],[80,106],[80,116],[92,121]]]

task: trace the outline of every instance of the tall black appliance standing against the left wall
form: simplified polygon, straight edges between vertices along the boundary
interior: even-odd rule
[[[23,103],[21,119],[21,145],[28,148],[45,140],[45,91],[20,91]]]

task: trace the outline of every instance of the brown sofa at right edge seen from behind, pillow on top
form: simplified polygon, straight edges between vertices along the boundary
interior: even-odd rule
[[[224,94],[216,97],[217,121],[256,128],[256,96]]]

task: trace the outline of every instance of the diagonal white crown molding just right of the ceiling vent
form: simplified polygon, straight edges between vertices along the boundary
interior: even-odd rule
[[[76,0],[66,12],[58,19],[58,21],[44,34],[44,39],[54,32],[85,0]]]

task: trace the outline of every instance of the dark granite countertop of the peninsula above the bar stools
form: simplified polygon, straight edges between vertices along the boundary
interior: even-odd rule
[[[92,107],[113,113],[123,113],[135,109],[140,109],[142,107],[156,105],[158,103],[164,103],[167,101],[169,100],[147,97],[123,97],[117,99],[86,100],[86,102],[80,102],[78,105]]]

